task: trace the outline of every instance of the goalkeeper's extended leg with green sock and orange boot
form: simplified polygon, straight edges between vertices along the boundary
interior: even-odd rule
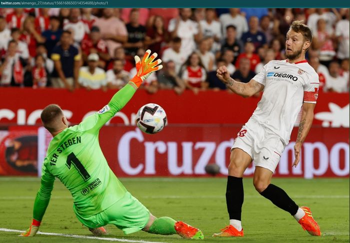
[[[149,213],[149,221],[142,229],[150,234],[174,235],[177,234],[186,239],[204,239],[203,233],[181,221],[175,221],[169,217],[155,218]]]

